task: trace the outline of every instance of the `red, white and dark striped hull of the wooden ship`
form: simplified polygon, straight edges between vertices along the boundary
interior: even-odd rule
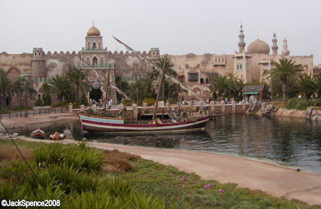
[[[198,118],[185,122],[164,123],[161,125],[153,124],[125,124],[103,122],[90,116],[80,116],[82,129],[90,132],[106,132],[109,134],[128,133],[128,134],[155,134],[155,133],[181,133],[185,131],[197,131],[205,129],[205,124],[209,118]],[[122,120],[123,121],[123,120]]]

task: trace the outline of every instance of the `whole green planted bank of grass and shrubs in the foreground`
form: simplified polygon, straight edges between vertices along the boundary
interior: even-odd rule
[[[26,153],[33,152],[26,148],[30,143],[15,141]],[[10,147],[8,143],[0,141],[1,148],[6,145],[0,156]],[[118,150],[102,151],[85,143],[33,145],[35,158],[29,155],[30,165],[51,197],[62,201],[60,208],[321,208],[237,188],[235,183],[201,181],[194,173]],[[23,170],[28,168],[23,162],[15,155],[9,161],[10,166],[0,171],[0,199],[48,199],[30,173],[26,178]]]

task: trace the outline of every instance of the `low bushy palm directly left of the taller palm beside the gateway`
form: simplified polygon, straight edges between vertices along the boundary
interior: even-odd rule
[[[56,75],[42,84],[41,91],[48,94],[55,93],[58,100],[64,103],[69,91],[68,80],[64,76]]]

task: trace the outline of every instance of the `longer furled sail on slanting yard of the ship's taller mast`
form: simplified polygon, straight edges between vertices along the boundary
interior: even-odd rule
[[[127,46],[125,43],[121,42],[119,39],[117,39],[116,37],[113,37],[114,39],[116,39],[116,41],[120,44],[122,44],[123,46],[125,46],[125,48],[127,48],[128,51],[131,51],[133,53],[135,53],[136,55],[138,55],[138,57],[140,57],[140,59],[145,60],[147,62],[149,62],[150,64],[152,64],[155,69],[158,72],[162,72],[162,69],[157,66],[157,64],[155,64],[154,62],[148,60],[146,57],[144,57],[143,55],[140,55],[137,51],[135,51],[133,48]],[[196,98],[198,98],[199,100],[205,102],[205,100],[203,100],[197,93],[195,93],[194,91],[192,91],[192,89],[190,89],[190,87],[187,87],[186,84],[183,84],[180,80],[178,80],[177,78],[175,78],[173,75],[170,75],[169,73],[165,72],[165,78],[169,78],[170,80],[172,80],[172,82],[176,83],[176,84],[180,84],[182,89],[190,92],[193,96],[195,96]]]

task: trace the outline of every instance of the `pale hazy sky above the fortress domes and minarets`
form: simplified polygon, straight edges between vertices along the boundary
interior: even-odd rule
[[[243,23],[246,48],[259,39],[279,53],[288,39],[291,55],[313,55],[321,63],[321,1],[17,1],[0,0],[0,52],[80,51],[93,25],[104,47],[125,51],[111,35],[138,51],[158,47],[160,53],[233,54]],[[272,53],[272,50],[270,50]]]

